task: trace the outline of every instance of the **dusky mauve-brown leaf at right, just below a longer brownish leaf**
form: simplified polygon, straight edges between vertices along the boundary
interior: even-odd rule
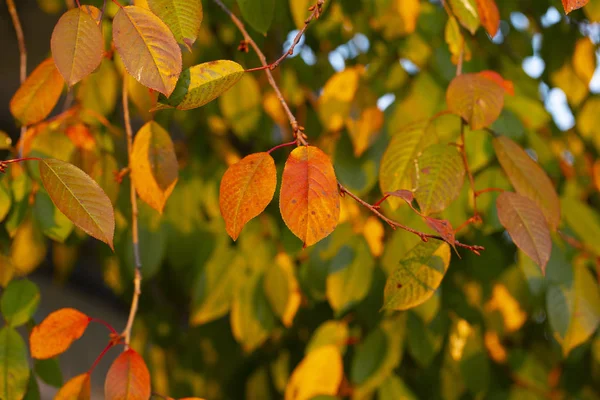
[[[498,218],[515,244],[546,271],[552,239],[546,218],[537,204],[517,193],[503,192],[496,199]]]

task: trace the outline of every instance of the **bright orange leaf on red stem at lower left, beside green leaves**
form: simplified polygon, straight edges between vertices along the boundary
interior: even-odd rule
[[[73,308],[54,311],[31,331],[31,357],[45,360],[64,353],[83,335],[89,322],[90,317]]]

